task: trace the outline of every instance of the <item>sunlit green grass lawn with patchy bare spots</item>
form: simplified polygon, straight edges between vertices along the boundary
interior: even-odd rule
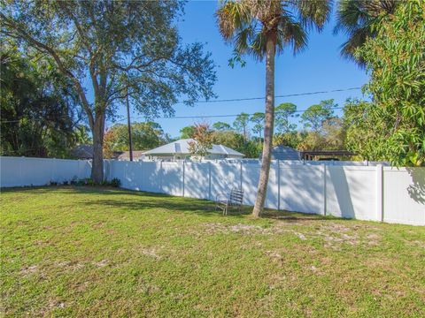
[[[5,316],[425,316],[425,227],[109,188],[0,198]]]

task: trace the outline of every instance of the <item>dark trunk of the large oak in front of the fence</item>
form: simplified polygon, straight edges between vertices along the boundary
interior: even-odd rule
[[[93,163],[91,178],[100,183],[104,181],[104,114],[97,115],[93,127]]]

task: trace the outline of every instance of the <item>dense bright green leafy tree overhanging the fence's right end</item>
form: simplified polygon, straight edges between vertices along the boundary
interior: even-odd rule
[[[400,2],[357,51],[370,72],[372,102],[349,101],[345,123],[352,150],[395,165],[425,163],[425,2]],[[362,133],[364,134],[362,136]]]

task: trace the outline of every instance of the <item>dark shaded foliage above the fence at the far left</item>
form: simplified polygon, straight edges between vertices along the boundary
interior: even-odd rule
[[[50,64],[23,57],[9,42],[1,63],[1,154],[65,158],[81,136],[72,83]]]

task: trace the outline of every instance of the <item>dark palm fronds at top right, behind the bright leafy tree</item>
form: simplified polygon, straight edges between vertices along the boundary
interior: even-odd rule
[[[347,42],[341,46],[341,55],[363,66],[355,50],[362,46],[367,37],[375,36],[374,24],[385,14],[395,11],[399,0],[340,0],[336,9],[334,33],[344,32]]]

